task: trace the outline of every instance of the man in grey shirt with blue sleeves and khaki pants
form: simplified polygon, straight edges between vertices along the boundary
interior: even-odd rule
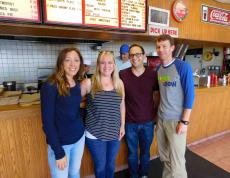
[[[156,128],[163,178],[187,178],[186,135],[194,102],[194,83],[189,64],[172,57],[174,40],[160,35],[156,50],[162,64],[157,70],[160,90]]]

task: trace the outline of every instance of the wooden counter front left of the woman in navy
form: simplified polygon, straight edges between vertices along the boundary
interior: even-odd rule
[[[48,178],[46,144],[35,109],[2,111],[0,178]]]

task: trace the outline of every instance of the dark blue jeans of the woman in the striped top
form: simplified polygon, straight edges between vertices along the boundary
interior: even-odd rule
[[[86,137],[86,144],[93,159],[96,178],[113,178],[120,141],[101,141]]]

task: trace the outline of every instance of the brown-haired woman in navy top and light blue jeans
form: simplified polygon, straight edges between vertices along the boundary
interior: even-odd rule
[[[80,178],[85,128],[80,118],[78,79],[83,70],[80,51],[63,49],[59,53],[55,73],[41,89],[42,124],[52,178]]]

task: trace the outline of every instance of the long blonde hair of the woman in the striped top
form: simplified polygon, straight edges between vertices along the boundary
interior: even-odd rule
[[[101,91],[103,89],[102,84],[101,84],[101,74],[100,74],[99,65],[100,65],[100,60],[105,55],[111,56],[111,58],[113,59],[114,70],[113,70],[113,72],[111,74],[112,82],[113,82],[113,86],[114,86],[115,91],[118,93],[118,95],[120,95],[122,97],[123,96],[122,81],[121,81],[121,79],[119,78],[119,75],[118,75],[118,70],[117,70],[117,66],[116,66],[113,51],[101,51],[98,54],[96,71],[92,76],[92,89],[91,89],[92,97],[94,98],[94,95],[98,91]]]

